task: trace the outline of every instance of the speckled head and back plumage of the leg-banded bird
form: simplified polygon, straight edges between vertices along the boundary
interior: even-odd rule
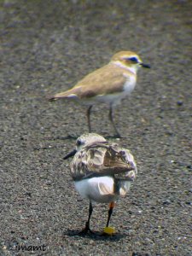
[[[87,133],[77,139],[77,153],[70,167],[75,183],[93,177],[112,177],[113,191],[112,189],[110,191],[113,195],[120,194],[121,183],[123,186],[126,182],[131,183],[137,176],[136,162],[130,151],[119,147],[117,143],[109,143],[104,137],[95,133]],[[81,194],[80,190],[79,194]],[[92,200],[89,195],[88,198]]]

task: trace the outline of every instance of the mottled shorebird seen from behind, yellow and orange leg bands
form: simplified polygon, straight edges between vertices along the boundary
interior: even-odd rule
[[[113,234],[108,227],[114,201],[125,196],[137,176],[136,162],[128,149],[108,141],[96,134],[85,133],[76,141],[76,148],[64,157],[73,156],[71,176],[79,194],[90,201],[89,218],[80,233],[92,233],[90,216],[92,201],[109,203],[108,221],[104,233]]]

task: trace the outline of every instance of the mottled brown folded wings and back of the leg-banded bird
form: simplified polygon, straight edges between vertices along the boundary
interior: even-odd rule
[[[84,148],[74,156],[71,172],[72,177],[109,175],[118,178],[129,178],[129,173],[137,174],[137,167],[133,156],[125,148],[116,145],[92,145]],[[131,176],[132,177],[132,176]]]

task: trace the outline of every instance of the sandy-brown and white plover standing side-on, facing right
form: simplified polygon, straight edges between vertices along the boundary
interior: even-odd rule
[[[140,57],[132,51],[120,51],[113,55],[111,61],[96,71],[89,73],[80,80],[72,89],[57,93],[49,97],[50,101],[58,99],[79,100],[86,105],[89,132],[90,111],[96,103],[109,104],[109,119],[116,132],[120,137],[119,131],[113,122],[113,106],[118,104],[121,99],[131,94],[137,83],[137,70],[139,67],[148,67]]]

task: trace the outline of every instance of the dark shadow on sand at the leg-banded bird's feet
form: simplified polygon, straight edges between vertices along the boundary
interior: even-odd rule
[[[119,241],[120,239],[124,238],[125,236],[128,236],[127,234],[122,234],[122,233],[115,233],[113,235],[107,235],[104,234],[102,232],[99,231],[93,231],[93,233],[87,233],[87,234],[82,234],[81,232],[79,232],[79,230],[67,230],[66,232],[64,232],[63,235],[66,236],[79,236],[79,237],[84,237],[84,238],[88,238],[91,240],[95,240],[95,241]]]

